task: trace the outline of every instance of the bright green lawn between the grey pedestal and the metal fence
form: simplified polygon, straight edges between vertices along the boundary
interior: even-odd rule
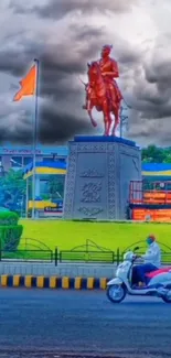
[[[60,250],[71,250],[76,246],[85,245],[86,240],[93,240],[96,245],[113,251],[118,247],[120,250],[125,250],[127,246],[139,240],[145,240],[149,234],[153,234],[159,242],[171,247],[171,225],[169,224],[79,223],[62,220],[20,220],[20,223],[24,227],[23,239],[40,240],[52,250],[55,247]],[[31,241],[28,240],[28,242]],[[30,247],[30,249],[33,248]]]

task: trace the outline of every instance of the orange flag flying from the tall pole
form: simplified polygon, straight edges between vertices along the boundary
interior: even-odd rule
[[[21,100],[24,96],[35,95],[36,89],[36,65],[32,66],[28,75],[20,80],[21,88],[15,94],[13,100]]]

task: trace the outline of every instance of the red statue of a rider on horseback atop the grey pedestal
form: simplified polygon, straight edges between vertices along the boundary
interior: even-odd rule
[[[119,69],[117,62],[110,57],[113,46],[105,45],[101,50],[101,57],[99,61],[88,63],[88,84],[85,85],[86,89],[86,104],[83,109],[87,110],[92,124],[97,126],[97,122],[92,116],[93,108],[104,115],[104,135],[116,135],[116,129],[119,124],[119,111],[122,98],[121,91],[116,83],[119,78]],[[113,117],[115,123],[113,126]]]

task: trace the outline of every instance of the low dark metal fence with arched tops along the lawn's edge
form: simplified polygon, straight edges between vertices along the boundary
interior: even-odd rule
[[[21,245],[20,249],[17,250],[0,249],[0,262],[42,262],[54,265],[65,263],[117,265],[122,261],[124,253],[128,250],[132,250],[136,246],[142,243],[142,246],[139,247],[139,256],[143,254],[146,250],[143,241],[138,241],[125,250],[118,248],[116,251],[113,251],[97,246],[92,240],[86,240],[86,245],[73,248],[72,250],[58,250],[58,248],[51,250],[39,240],[30,240],[34,241],[32,249],[30,249],[31,245],[28,245],[28,242],[26,245]],[[171,265],[171,248],[165,245],[161,246],[162,264]]]

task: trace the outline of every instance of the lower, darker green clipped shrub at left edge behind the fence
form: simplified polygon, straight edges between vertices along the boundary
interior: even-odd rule
[[[22,225],[0,226],[1,250],[17,250],[22,231]]]

